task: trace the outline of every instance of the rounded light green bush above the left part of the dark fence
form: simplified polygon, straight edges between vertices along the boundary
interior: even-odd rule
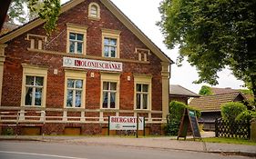
[[[221,116],[224,120],[235,121],[236,117],[247,108],[239,102],[230,102],[221,105]]]

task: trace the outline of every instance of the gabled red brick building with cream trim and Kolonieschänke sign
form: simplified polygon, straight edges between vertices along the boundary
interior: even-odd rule
[[[43,123],[46,134],[106,134],[108,116],[139,115],[161,133],[173,62],[116,5],[70,1],[52,35],[43,25],[0,36],[3,130],[18,121],[18,134],[42,133]]]

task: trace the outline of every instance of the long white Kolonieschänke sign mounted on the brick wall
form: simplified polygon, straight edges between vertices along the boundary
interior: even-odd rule
[[[123,64],[111,61],[90,60],[81,58],[63,57],[63,66],[73,68],[87,68],[106,71],[123,71]]]

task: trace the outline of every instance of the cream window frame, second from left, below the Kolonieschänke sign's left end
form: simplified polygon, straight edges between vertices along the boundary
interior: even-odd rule
[[[72,107],[67,107],[67,80],[71,79],[71,80],[82,80],[83,81],[83,85],[82,88],[76,89],[74,88],[74,90],[81,90],[81,106],[80,107],[76,107],[74,104],[74,101],[76,101],[76,99],[74,98],[74,93],[73,93],[73,106]],[[79,108],[85,108],[86,107],[86,82],[87,82],[87,72],[85,71],[80,71],[80,70],[65,70],[65,90],[64,90],[64,107],[65,108],[74,108],[74,109],[79,109]],[[76,95],[76,94],[75,94]],[[75,100],[74,100],[75,99]]]

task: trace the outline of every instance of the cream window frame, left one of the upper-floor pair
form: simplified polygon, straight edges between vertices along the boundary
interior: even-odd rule
[[[79,35],[84,36],[81,54],[77,53],[77,47],[75,47],[74,53],[69,52],[69,46],[70,46],[69,35],[70,35],[70,33],[73,33],[76,35],[79,34]],[[78,42],[78,41],[75,40],[75,42]],[[79,41],[79,42],[81,42],[81,41]],[[87,25],[75,25],[75,24],[67,23],[67,53],[75,54],[75,55],[86,55],[87,54]]]

